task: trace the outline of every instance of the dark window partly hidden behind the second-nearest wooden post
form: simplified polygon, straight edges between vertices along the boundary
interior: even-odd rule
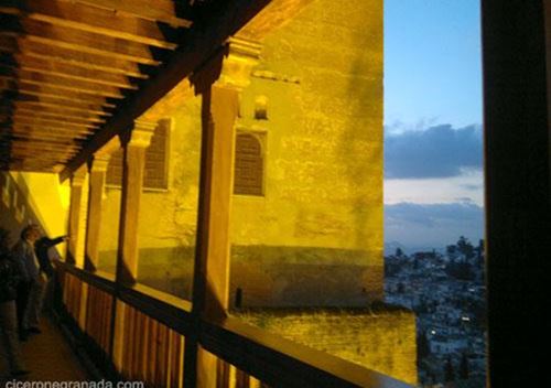
[[[145,150],[145,170],[143,172],[143,188],[169,187],[169,128],[170,120],[161,120]],[[107,168],[107,184],[122,185],[122,150],[117,151]]]

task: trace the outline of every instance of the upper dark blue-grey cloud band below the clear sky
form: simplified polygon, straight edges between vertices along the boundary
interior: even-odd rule
[[[386,179],[458,176],[480,170],[483,139],[479,126],[454,129],[451,125],[387,132],[385,139]]]

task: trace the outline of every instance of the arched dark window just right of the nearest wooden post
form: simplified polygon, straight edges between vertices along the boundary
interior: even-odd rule
[[[250,133],[237,134],[234,194],[262,195],[263,169],[260,140]]]

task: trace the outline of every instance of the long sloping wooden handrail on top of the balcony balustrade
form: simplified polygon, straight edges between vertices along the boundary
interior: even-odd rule
[[[115,294],[115,283],[73,265],[57,267],[91,287]],[[244,323],[236,317],[219,322],[198,320],[194,325],[191,303],[143,284],[121,287],[117,298],[181,335],[193,333],[201,345],[225,362],[272,386],[406,388],[393,379],[343,358]]]

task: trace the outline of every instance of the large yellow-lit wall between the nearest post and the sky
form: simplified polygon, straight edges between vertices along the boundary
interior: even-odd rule
[[[272,32],[238,130],[266,170],[263,196],[234,197],[231,291],[247,305],[381,299],[382,2],[314,1]]]

